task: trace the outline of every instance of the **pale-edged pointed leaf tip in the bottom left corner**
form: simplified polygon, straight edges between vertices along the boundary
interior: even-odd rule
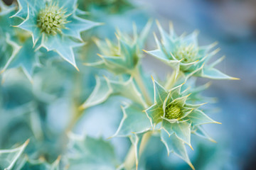
[[[24,149],[28,145],[29,140],[23,143],[20,147],[14,149],[1,149],[0,150],[0,167],[4,170],[11,170],[15,166],[18,159],[21,157]]]

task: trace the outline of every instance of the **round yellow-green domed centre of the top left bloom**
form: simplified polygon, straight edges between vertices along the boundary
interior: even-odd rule
[[[65,15],[66,11],[59,8],[57,5],[49,5],[41,9],[38,13],[38,27],[41,32],[48,35],[56,35],[62,33],[61,29],[65,28],[65,23],[68,23]]]

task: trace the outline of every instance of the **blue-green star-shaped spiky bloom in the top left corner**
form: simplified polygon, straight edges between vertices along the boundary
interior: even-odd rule
[[[77,0],[18,0],[13,17],[23,19],[17,27],[32,33],[36,50],[53,50],[76,67],[73,47],[83,45],[80,33],[99,25],[76,16],[76,4]]]

